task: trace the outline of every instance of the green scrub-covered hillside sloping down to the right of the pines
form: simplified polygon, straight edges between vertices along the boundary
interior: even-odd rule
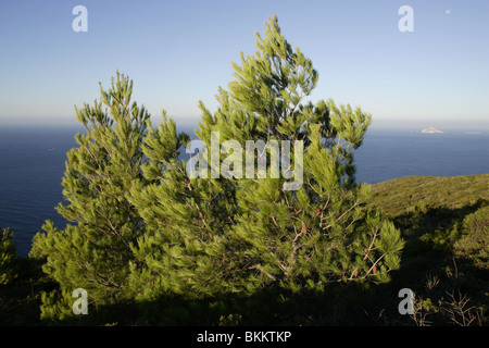
[[[405,240],[392,289],[416,293],[415,324],[488,324],[489,174],[410,176],[372,186]]]

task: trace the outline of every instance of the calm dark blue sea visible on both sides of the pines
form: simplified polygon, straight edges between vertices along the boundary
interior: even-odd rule
[[[28,253],[46,220],[65,224],[54,207],[63,200],[66,152],[76,146],[78,130],[0,126],[0,226],[14,231],[20,256]],[[355,161],[358,181],[369,184],[409,175],[489,173],[489,134],[372,129]]]

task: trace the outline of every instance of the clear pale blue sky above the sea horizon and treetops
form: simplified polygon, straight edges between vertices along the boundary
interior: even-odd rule
[[[88,32],[75,33],[75,5]],[[402,33],[401,5],[414,10]],[[312,100],[360,105],[378,126],[489,128],[489,1],[247,0],[0,2],[0,126],[75,123],[118,70],[158,121],[196,123],[215,110],[230,62],[253,53],[277,14],[319,73]]]

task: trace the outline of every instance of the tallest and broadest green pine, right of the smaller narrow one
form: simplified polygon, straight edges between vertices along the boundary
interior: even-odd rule
[[[206,178],[189,177],[189,162],[177,161],[183,144],[174,124],[151,133],[150,140],[168,141],[173,154],[154,156],[162,145],[147,147],[145,153],[156,164],[145,175],[161,179],[131,190],[148,226],[131,263],[133,289],[141,299],[271,288],[283,295],[321,291],[328,283],[387,282],[399,266],[399,231],[379,212],[364,209],[368,186],[354,178],[354,151],[371,115],[333,100],[305,102],[318,74],[280,34],[276,16],[266,24],[265,37],[256,34],[256,48],[254,55],[241,53],[240,65],[233,63],[236,79],[229,90],[220,88],[214,114],[200,102],[196,134],[206,148],[215,140],[213,132],[220,132],[220,145],[242,145],[233,160],[229,152],[220,153],[220,163],[233,164],[229,175],[213,177],[208,171]],[[272,177],[272,161],[266,177],[259,176],[258,166],[252,177],[243,177],[237,165],[246,162],[246,140],[301,145],[302,151],[290,151],[290,163],[296,163],[292,172],[299,170],[298,156],[303,156],[302,185],[285,189],[290,183]],[[267,151],[272,159],[271,147]],[[211,151],[202,158],[212,164]],[[254,163],[264,159],[253,152]],[[161,163],[166,165],[159,171]]]

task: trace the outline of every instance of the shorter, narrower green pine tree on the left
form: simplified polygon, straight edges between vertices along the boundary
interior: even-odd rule
[[[130,102],[133,82],[118,72],[111,88],[100,85],[100,92],[93,107],[75,107],[86,134],[76,135],[78,147],[67,153],[64,202],[58,207],[71,224],[60,229],[47,221],[46,234],[33,240],[29,256],[46,260],[43,272],[60,285],[59,294],[43,296],[45,318],[70,312],[66,306],[55,310],[55,303],[73,302],[76,288],[86,289],[96,306],[121,301],[131,244],[143,231],[127,194],[145,181],[141,145],[149,114]]]

